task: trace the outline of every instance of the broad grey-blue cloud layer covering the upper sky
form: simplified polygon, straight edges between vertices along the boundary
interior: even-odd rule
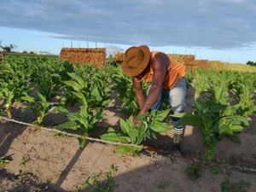
[[[0,26],[71,40],[227,49],[256,42],[252,0],[9,0]]]

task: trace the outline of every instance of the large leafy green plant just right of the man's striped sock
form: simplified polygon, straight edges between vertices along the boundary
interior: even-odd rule
[[[240,104],[230,106],[229,100],[224,94],[225,85],[217,89],[209,89],[207,96],[194,102],[194,113],[173,114],[174,117],[182,117],[177,125],[195,125],[201,130],[203,144],[207,150],[203,159],[211,161],[215,153],[216,143],[222,137],[229,137],[236,143],[241,143],[235,134],[247,126],[247,118],[236,114]]]

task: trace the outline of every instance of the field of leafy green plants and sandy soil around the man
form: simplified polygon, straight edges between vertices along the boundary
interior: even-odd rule
[[[136,127],[131,78],[103,63],[29,55],[0,63],[1,192],[255,191],[254,68],[187,71],[180,157],[171,153],[172,108]]]

